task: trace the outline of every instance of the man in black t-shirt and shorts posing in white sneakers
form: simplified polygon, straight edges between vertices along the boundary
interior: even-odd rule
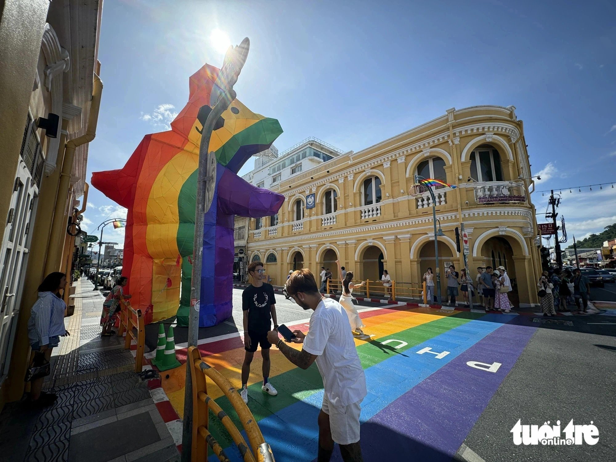
[[[244,312],[244,363],[241,365],[241,399],[248,403],[248,377],[250,363],[253,362],[254,352],[261,344],[261,357],[263,359],[263,384],[261,389],[272,396],[278,394],[274,386],[269,383],[270,356],[272,346],[267,341],[267,332],[278,328],[276,318],[276,298],[271,284],[264,283],[265,270],[260,261],[253,261],[248,265],[248,274],[253,277],[253,283],[246,287],[241,294],[241,309]]]

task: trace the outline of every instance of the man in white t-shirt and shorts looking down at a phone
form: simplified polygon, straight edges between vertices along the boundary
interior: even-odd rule
[[[286,282],[283,294],[303,309],[314,310],[308,333],[293,331],[296,338],[292,342],[303,344],[301,350],[286,345],[275,330],[267,333],[267,339],[302,369],[317,363],[325,389],[318,415],[317,461],[328,462],[336,442],[344,462],[362,462],[360,403],[368,392],[349,317],[341,304],[320,294],[310,270],[294,272]]]

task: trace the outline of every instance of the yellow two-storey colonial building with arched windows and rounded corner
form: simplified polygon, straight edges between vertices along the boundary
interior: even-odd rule
[[[285,168],[293,172],[293,163]],[[513,106],[451,108],[360,152],[272,181],[270,188],[286,200],[277,216],[251,220],[249,261],[265,262],[274,285],[302,267],[318,274],[325,266],[336,277],[336,259],[356,279],[379,280],[387,269],[396,282],[421,282],[436,264],[432,199],[428,191],[410,194],[416,174],[456,185],[433,190],[445,234],[438,237],[441,274],[450,263],[458,270],[464,265],[455,241],[455,228],[464,224],[471,277],[479,265],[503,265],[513,301],[536,304],[541,262],[530,201],[534,182]]]

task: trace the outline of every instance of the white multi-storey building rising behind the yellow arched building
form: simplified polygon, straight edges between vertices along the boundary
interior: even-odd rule
[[[344,152],[341,149],[315,137],[308,137],[282,153],[278,153],[278,149],[272,145],[269,149],[256,155],[254,169],[242,178],[258,188],[282,193],[280,191],[281,182],[342,154]],[[261,229],[264,226],[275,226],[276,224],[278,224],[278,214],[257,219],[256,229]],[[233,273],[235,279],[240,281],[246,280],[248,225],[249,220],[245,217],[235,217]]]

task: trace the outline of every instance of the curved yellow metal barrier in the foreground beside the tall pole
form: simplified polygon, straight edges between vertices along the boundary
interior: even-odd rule
[[[188,364],[192,365],[192,391],[193,391],[193,436],[192,436],[192,462],[206,462],[208,458],[208,446],[216,454],[219,460],[229,460],[221,445],[208,431],[208,410],[219,418],[225,429],[229,432],[233,442],[237,445],[244,462],[274,462],[274,455],[263,438],[261,429],[257,425],[253,414],[240,397],[235,387],[213,367],[201,359],[201,353],[197,347],[188,347]],[[208,377],[225,394],[229,402],[237,412],[241,424],[246,431],[251,450],[246,440],[241,436],[233,421],[216,402],[209,397],[205,378]]]

